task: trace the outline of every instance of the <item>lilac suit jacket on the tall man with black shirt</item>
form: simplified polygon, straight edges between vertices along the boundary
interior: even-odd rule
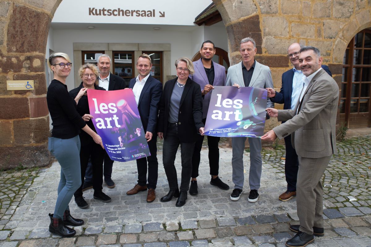
[[[214,63],[214,82],[213,86],[226,86],[226,68],[221,66],[218,63]],[[190,79],[195,81],[201,87],[201,91],[204,90],[206,84],[209,84],[209,79],[207,79],[207,75],[204,69],[204,65],[202,64],[201,59],[193,62],[194,66],[194,74],[190,75]],[[210,98],[213,90],[209,93],[205,94],[202,100],[202,118],[206,119],[207,117],[207,110],[209,110],[209,103]]]

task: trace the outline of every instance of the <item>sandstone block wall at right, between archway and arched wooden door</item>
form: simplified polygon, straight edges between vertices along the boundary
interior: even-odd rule
[[[371,27],[371,1],[367,0],[213,2],[226,25],[231,65],[241,61],[240,41],[252,37],[257,45],[256,60],[270,67],[276,91],[280,90],[282,73],[291,68],[287,47],[294,42],[318,47],[340,86],[349,41],[358,31]],[[278,124],[276,119],[268,120],[266,130]]]

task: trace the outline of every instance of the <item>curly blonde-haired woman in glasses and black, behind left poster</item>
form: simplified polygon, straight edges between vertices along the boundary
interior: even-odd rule
[[[79,76],[81,78],[80,86],[72,89],[70,91],[70,96],[75,99],[77,103],[77,111],[82,116],[82,118],[87,121],[86,124],[96,132],[94,124],[90,119],[90,111],[88,104],[88,96],[86,96],[86,89],[95,90],[105,90],[103,87],[98,86],[98,68],[91,63],[84,64],[79,69]],[[79,208],[87,208],[89,205],[86,203],[84,197],[82,196],[82,185],[84,183],[85,171],[88,166],[89,157],[91,157],[92,162],[92,172],[93,172],[93,198],[101,200],[105,203],[111,201],[111,198],[103,193],[103,160],[105,155],[105,150],[96,144],[92,137],[81,132],[79,134],[81,141],[80,150],[80,167],[81,167],[81,186],[74,193],[75,202]]]

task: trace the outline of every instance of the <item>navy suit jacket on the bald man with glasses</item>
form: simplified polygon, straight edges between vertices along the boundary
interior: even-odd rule
[[[332,76],[331,71],[328,66],[322,65],[324,69],[330,76]],[[282,74],[282,87],[279,92],[276,91],[276,96],[270,98],[274,103],[283,104],[283,109],[291,109],[291,94],[292,94],[292,80],[294,78],[294,71],[290,69]]]

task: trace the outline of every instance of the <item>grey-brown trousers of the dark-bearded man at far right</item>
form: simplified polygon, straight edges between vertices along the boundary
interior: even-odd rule
[[[299,230],[307,234],[313,234],[313,226],[324,227],[321,177],[330,158],[331,156],[321,158],[299,156],[296,208],[300,221]]]

